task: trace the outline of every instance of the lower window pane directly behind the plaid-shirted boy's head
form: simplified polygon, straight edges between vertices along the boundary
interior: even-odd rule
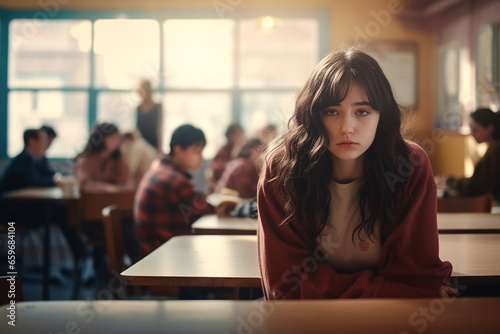
[[[207,146],[205,159],[212,159],[224,145],[224,131],[231,122],[231,102],[226,93],[169,93],[163,100],[165,138],[163,149],[170,152],[170,137],[182,124],[189,123],[203,130]]]

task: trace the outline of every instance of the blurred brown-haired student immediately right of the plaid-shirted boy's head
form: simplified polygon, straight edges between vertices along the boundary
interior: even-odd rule
[[[243,128],[238,123],[230,124],[226,129],[225,136],[226,143],[217,151],[215,157],[208,163],[208,166],[205,169],[205,177],[208,183],[208,194],[215,191],[217,183],[219,182],[226,165],[232,158],[234,158],[237,146],[244,138]]]

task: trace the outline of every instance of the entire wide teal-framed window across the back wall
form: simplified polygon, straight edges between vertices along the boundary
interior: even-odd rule
[[[192,123],[205,132],[210,159],[232,121],[248,136],[268,124],[282,128],[320,47],[327,48],[317,12],[168,15],[60,12],[40,22],[12,12],[7,154],[21,150],[25,128],[42,124],[58,132],[48,153],[59,158],[74,157],[96,121],[132,130],[135,88],[146,78],[163,104],[165,151],[173,129]]]

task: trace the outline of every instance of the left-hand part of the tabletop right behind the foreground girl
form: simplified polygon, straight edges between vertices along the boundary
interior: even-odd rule
[[[257,238],[174,237],[121,275],[131,285],[260,287]]]

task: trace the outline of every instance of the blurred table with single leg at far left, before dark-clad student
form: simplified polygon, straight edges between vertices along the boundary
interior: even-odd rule
[[[49,271],[51,265],[51,240],[50,240],[50,217],[51,203],[64,201],[68,206],[75,207],[78,205],[79,195],[77,193],[64,193],[59,187],[47,188],[23,188],[8,192],[3,195],[2,199],[7,201],[24,201],[24,202],[43,202],[44,215],[40,217],[44,225],[44,267],[43,267],[43,299],[49,298]],[[70,215],[71,217],[71,215]]]

